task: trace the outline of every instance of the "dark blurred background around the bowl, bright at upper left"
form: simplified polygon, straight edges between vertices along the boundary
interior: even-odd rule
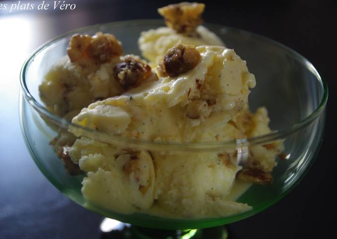
[[[116,20],[160,18],[156,9],[174,1],[67,2],[76,3],[76,9],[11,13],[0,10],[0,239],[99,238],[101,217],[57,191],[25,148],[18,121],[19,70],[23,61],[39,45],[66,31]],[[336,236],[332,219],[336,214],[337,177],[333,164],[336,7],[332,3],[206,2],[206,22],[258,33],[294,49],[316,66],[330,91],[325,139],[307,176],[276,205],[228,226],[230,239]]]

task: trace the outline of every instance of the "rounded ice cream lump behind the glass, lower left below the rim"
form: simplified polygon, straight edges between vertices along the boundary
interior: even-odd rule
[[[155,171],[148,152],[121,150],[82,137],[69,156],[87,173],[82,193],[89,202],[125,214],[152,206]]]

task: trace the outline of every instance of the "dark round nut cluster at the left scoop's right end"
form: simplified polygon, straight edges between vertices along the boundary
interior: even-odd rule
[[[150,65],[132,56],[127,56],[123,62],[115,65],[114,74],[119,80],[121,87],[129,89],[139,85],[144,79],[148,78],[152,74],[152,71]]]

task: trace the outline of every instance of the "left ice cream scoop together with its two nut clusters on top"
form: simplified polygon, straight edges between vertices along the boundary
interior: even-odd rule
[[[157,79],[139,57],[121,54],[121,45],[111,34],[75,34],[70,39],[68,56],[56,63],[39,86],[42,101],[50,111],[63,117],[97,100],[119,95],[140,81]],[[126,68],[136,65],[126,70],[137,70],[137,74],[120,79],[116,71],[121,76],[121,68],[116,66],[121,64]]]

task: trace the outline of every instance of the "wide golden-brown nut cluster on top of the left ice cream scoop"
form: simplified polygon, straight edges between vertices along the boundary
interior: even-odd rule
[[[71,62],[93,60],[105,63],[122,55],[120,42],[112,34],[97,32],[93,37],[87,34],[74,34],[69,41],[67,53]]]

